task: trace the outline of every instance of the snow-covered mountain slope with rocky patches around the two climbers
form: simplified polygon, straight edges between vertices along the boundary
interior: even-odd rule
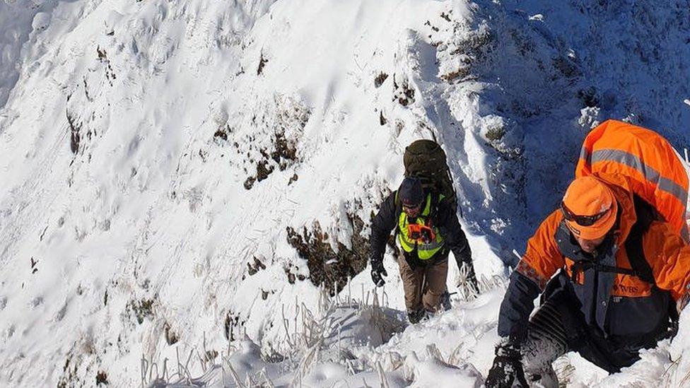
[[[689,16],[683,1],[0,2],[0,382],[129,387],[167,358],[217,383],[229,347],[242,373],[261,356],[281,384],[481,384],[500,279],[387,344],[352,345],[350,364],[288,333],[317,310],[317,285],[368,299],[370,214],[414,139],[443,143],[489,279],[597,122],[682,148]],[[404,309],[386,265],[387,318],[374,315],[389,337]],[[670,346],[674,374],[564,370],[573,386],[682,385],[685,336],[649,356],[661,371]]]

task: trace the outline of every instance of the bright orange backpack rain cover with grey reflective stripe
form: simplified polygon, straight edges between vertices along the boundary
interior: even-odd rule
[[[688,241],[688,170],[660,134],[616,120],[592,129],[583,143],[575,177],[620,174],[631,190],[654,206]]]

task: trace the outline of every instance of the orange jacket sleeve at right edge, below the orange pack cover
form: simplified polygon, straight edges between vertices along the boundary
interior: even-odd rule
[[[667,223],[654,222],[643,237],[643,249],[657,287],[670,291],[680,312],[690,300],[690,246]]]

